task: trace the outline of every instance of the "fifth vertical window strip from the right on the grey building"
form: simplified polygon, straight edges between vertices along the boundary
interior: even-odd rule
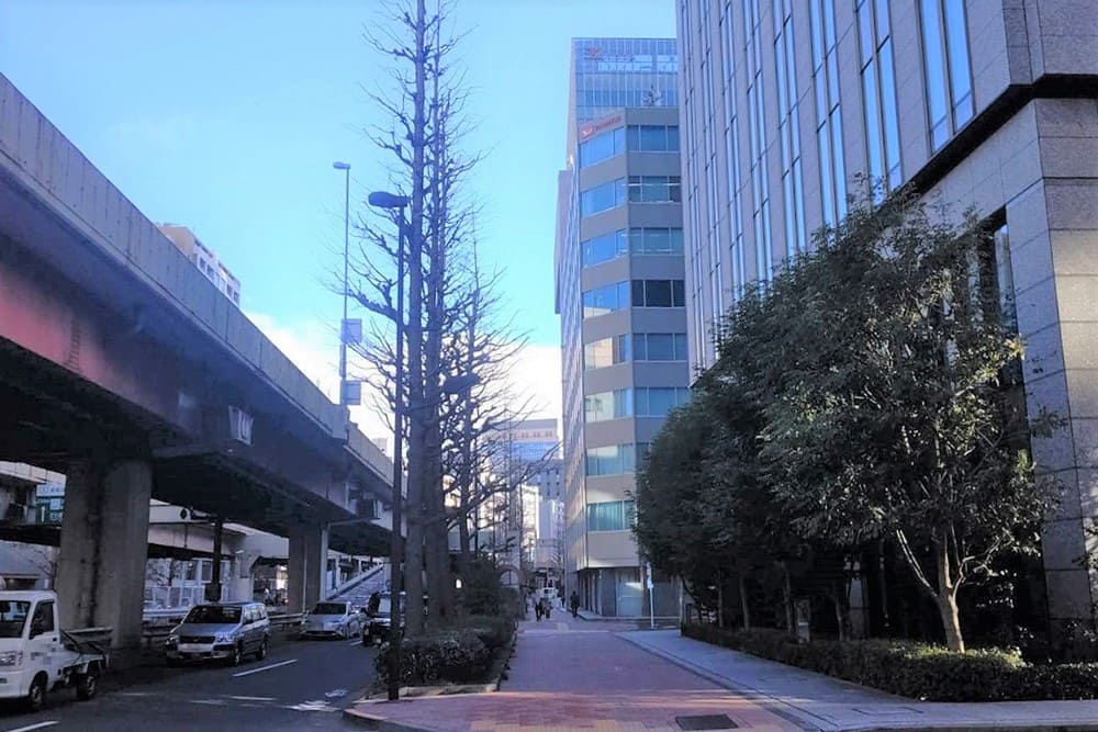
[[[759,0],[743,0],[743,19],[747,44],[743,55],[748,70],[748,116],[751,135],[751,190],[754,211],[751,219],[755,237],[755,275],[760,282],[770,282],[774,275],[774,255],[770,228],[770,176],[766,172],[766,112],[762,77],[762,19]]]

